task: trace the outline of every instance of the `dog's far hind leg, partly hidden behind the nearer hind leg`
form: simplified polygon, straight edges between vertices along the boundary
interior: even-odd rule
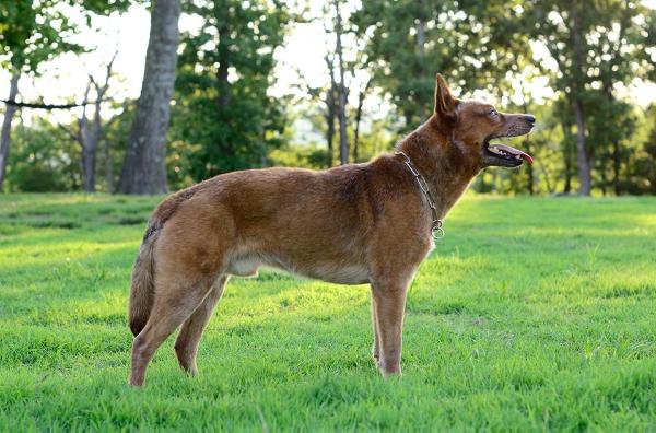
[[[227,276],[221,276],[212,285],[210,293],[206,296],[202,303],[196,308],[194,314],[185,320],[180,335],[175,341],[175,353],[177,355],[180,367],[196,375],[198,368],[196,366],[196,354],[202,332],[212,316],[212,312],[216,303],[223,294],[223,289],[227,282]]]

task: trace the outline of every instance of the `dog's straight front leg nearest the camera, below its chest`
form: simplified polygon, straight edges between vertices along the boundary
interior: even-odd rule
[[[374,330],[378,340],[378,370],[385,377],[401,375],[401,346],[407,283],[372,283]],[[374,351],[376,338],[374,338]],[[375,355],[375,353],[374,353]]]

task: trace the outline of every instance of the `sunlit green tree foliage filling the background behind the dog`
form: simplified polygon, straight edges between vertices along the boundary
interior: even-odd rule
[[[70,43],[80,28],[71,24],[67,11],[89,19],[133,3],[141,1],[1,2],[0,61],[35,71],[36,65],[47,65],[62,51],[87,49]],[[166,155],[171,189],[233,169],[320,168],[335,163],[337,152],[329,157],[328,145],[319,143],[336,134],[328,128],[328,119],[336,116],[335,101],[335,113],[329,113],[330,74],[325,83],[313,83],[316,87],[298,83],[294,89],[302,94],[294,98],[271,95],[278,73],[274,54],[284,46],[288,30],[303,20],[325,27],[326,68],[337,72],[331,40],[335,4],[184,2],[185,12],[200,26],[183,34],[180,43]],[[319,16],[296,14],[297,10]],[[578,32],[573,11],[584,12]],[[478,191],[571,194],[582,186],[577,161],[582,145],[595,194],[655,191],[649,137],[656,113],[643,112],[626,92],[636,80],[656,80],[656,10],[643,2],[370,0],[341,3],[341,12],[347,82],[352,84],[347,104],[349,143],[355,141],[355,124],[360,126],[358,156],[350,149],[350,160],[368,161],[389,150],[427,118],[434,74],[440,71],[461,97],[483,90],[475,95],[505,112],[530,112],[538,118],[528,139],[513,141],[530,150],[536,166],[485,172],[475,180]],[[531,100],[540,86],[552,92]],[[372,107],[365,104],[358,122],[361,92]],[[382,118],[386,112],[389,115]],[[98,178],[105,179],[101,189],[110,190],[120,172],[131,116],[121,115],[105,132],[110,154],[103,154],[101,144]],[[303,128],[294,130],[300,124],[311,124],[309,139],[301,137]],[[579,127],[585,142],[577,137]],[[79,157],[79,152],[72,156]],[[19,157],[12,152],[10,164]],[[69,180],[61,185],[77,188]]]

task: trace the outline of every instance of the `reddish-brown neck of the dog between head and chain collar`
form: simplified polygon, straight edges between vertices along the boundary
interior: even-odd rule
[[[479,173],[478,165],[466,154],[465,144],[458,143],[435,117],[406,137],[397,150],[407,154],[426,179],[440,218],[446,215]]]

